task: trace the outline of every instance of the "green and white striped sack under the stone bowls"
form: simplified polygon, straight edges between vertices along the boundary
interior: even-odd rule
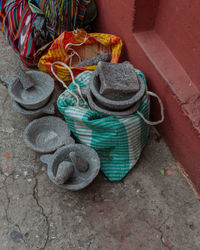
[[[136,72],[146,83],[142,72]],[[149,92],[143,97],[138,112],[127,117],[103,116],[91,110],[80,97],[80,89],[89,85],[92,74],[91,71],[85,71],[75,80],[72,78],[69,89],[58,98],[58,109],[64,115],[76,141],[97,151],[101,170],[106,177],[110,181],[119,181],[135,166],[147,143]]]

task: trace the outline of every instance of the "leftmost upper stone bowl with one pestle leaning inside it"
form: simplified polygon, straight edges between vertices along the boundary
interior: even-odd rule
[[[38,109],[44,106],[54,90],[53,78],[40,71],[27,71],[34,80],[34,87],[24,89],[18,78],[8,85],[8,93],[15,102],[26,109]]]

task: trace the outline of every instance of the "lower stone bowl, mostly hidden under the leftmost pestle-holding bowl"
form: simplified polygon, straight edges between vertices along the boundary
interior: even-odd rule
[[[11,99],[13,108],[23,116],[25,116],[28,119],[36,119],[41,116],[46,115],[54,115],[55,114],[55,106],[54,103],[56,102],[55,94],[50,97],[50,100],[47,104],[45,104],[43,107],[39,109],[25,109],[23,108],[19,103],[15,102],[13,99]]]

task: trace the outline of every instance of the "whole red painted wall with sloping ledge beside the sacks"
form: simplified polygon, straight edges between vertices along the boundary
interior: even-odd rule
[[[200,84],[197,81],[200,48],[196,46],[196,39],[200,39],[196,27],[200,21],[193,18],[200,2],[194,0],[195,9],[192,6],[189,9],[187,0],[182,0],[181,6],[174,0],[96,2],[99,10],[97,30],[122,38],[123,59],[142,70],[150,89],[161,97],[165,121],[158,128],[200,191]],[[188,11],[192,12],[189,21],[183,19],[184,11],[187,15]],[[173,23],[177,27],[169,27],[171,17],[176,19]],[[195,22],[199,22],[198,26]],[[186,35],[188,25],[194,29],[190,27]],[[171,34],[172,30],[179,33],[179,37]],[[194,59],[192,65],[191,58]],[[159,119],[159,113],[153,103],[153,118]]]

